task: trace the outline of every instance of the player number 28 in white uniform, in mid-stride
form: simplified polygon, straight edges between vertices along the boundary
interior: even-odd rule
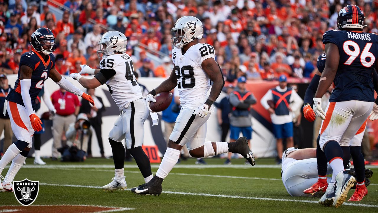
[[[178,86],[181,110],[156,175],[150,182],[132,188],[136,194],[161,194],[161,184],[177,163],[180,150],[185,144],[192,157],[234,152],[240,153],[254,165],[253,153],[244,137],[234,143],[205,142],[206,121],[213,111],[212,103],[217,100],[225,81],[220,67],[214,60],[213,47],[198,43],[198,39],[203,35],[201,21],[193,16],[181,17],[175,23],[172,34],[174,69],[167,80],[149,92],[146,100],[149,108],[149,103],[156,101],[153,98],[156,94],[169,92]],[[208,96],[211,81],[213,85]]]

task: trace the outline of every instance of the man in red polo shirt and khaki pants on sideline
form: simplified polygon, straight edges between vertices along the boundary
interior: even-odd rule
[[[56,114],[53,118],[53,160],[59,158],[57,149],[62,147],[62,136],[68,129],[68,125],[74,123],[80,110],[80,102],[77,96],[60,88],[51,94],[51,102]]]

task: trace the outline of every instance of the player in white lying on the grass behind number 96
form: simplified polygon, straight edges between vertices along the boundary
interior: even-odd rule
[[[285,186],[287,192],[294,197],[299,196],[322,196],[327,190],[326,185],[318,185],[317,191],[311,193],[304,193],[304,190],[309,188],[315,182],[318,181],[318,169],[316,162],[316,149],[297,149],[291,147],[282,155],[282,182]],[[352,176],[356,176],[356,171],[354,168],[347,166],[348,173]],[[331,166],[326,162],[325,175],[332,174]],[[365,185],[370,184],[369,178],[372,177],[373,171],[370,169],[365,169]],[[325,183],[331,181],[331,177],[324,177]]]

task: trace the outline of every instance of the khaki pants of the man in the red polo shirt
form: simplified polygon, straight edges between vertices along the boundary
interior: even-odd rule
[[[60,156],[57,149],[62,147],[62,135],[68,130],[70,124],[75,121],[76,116],[74,114],[65,117],[55,114],[53,118],[53,158],[58,158]]]

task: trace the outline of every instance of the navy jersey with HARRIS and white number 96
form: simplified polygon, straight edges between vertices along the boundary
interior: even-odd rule
[[[378,55],[378,35],[346,30],[329,30],[323,43],[339,47],[339,66],[330,102],[360,100],[373,102],[373,72]]]

